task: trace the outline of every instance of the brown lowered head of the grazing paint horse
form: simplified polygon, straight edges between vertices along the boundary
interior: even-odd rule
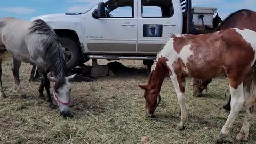
[[[149,75],[149,82],[148,85],[139,85],[141,89],[144,89],[144,98],[146,100],[145,105],[145,113],[148,117],[153,117],[154,111],[156,110],[156,107],[161,101],[160,97],[160,89],[156,89],[156,86],[151,86],[150,81],[152,81],[153,73],[150,73]]]

